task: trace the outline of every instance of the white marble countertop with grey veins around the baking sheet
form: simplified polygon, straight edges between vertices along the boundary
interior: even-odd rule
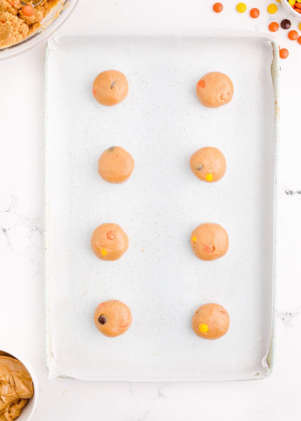
[[[173,28],[229,27],[268,32],[270,21],[288,18],[280,3],[246,2],[251,19],[234,0],[220,14],[211,0],[80,0],[60,32],[135,33]],[[299,31],[300,33],[300,31]],[[128,383],[48,381],[43,332],[43,65],[45,45],[0,62],[0,338],[23,353],[40,381],[32,420],[183,421],[300,419],[301,363],[301,45],[288,31],[276,33],[281,60],[281,147],[278,244],[278,317],[274,372],[262,381]],[[259,176],[264,176],[260,174]],[[217,404],[219,402],[219,404]]]

